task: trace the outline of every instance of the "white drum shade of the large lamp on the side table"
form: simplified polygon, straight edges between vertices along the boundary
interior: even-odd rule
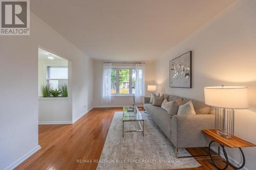
[[[248,109],[247,87],[221,86],[204,88],[205,104],[230,109]]]

